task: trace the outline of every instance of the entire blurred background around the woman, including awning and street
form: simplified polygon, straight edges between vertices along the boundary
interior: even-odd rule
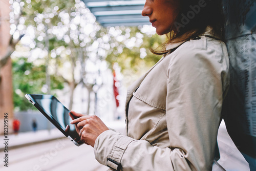
[[[149,49],[165,36],[140,18],[144,1],[118,2],[0,1],[0,135],[8,113],[9,137],[9,166],[1,170],[106,170],[93,148],[76,147],[25,94],[52,94],[122,132],[126,88],[161,58]],[[218,141],[227,170],[249,170],[224,123]]]

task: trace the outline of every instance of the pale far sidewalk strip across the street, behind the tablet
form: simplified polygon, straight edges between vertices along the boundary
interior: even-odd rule
[[[124,121],[109,121],[105,122],[106,126],[111,127],[112,129],[115,129],[119,132],[122,132],[124,128]],[[48,130],[39,130],[36,132],[23,132],[15,134],[8,135],[7,138],[5,138],[4,135],[0,136],[0,140],[2,141],[0,143],[0,151],[3,151],[5,149],[5,141],[8,141],[8,149],[16,148],[16,147],[22,147],[26,145],[31,145],[35,143],[41,143],[46,141],[55,140],[58,138],[65,138],[66,136],[63,135],[58,129],[52,129],[50,131]],[[8,140],[5,140],[8,139]]]

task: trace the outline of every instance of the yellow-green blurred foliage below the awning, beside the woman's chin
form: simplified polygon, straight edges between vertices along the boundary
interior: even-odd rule
[[[124,75],[124,84],[129,86],[162,57],[161,55],[152,54],[150,48],[156,49],[159,47],[165,41],[165,37],[143,33],[142,27],[120,27],[115,29],[121,31],[120,35],[126,38],[123,38],[123,41],[118,41],[116,36],[111,36],[109,43],[115,44],[115,47],[109,51],[106,61],[110,63],[110,67],[115,62],[118,63]],[[132,40],[135,40],[135,46],[131,48],[127,44]],[[141,43],[138,43],[140,41]],[[141,56],[141,49],[144,50],[145,56]]]

